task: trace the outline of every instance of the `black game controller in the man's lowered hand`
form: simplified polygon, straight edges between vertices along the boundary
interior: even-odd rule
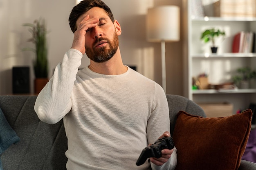
[[[154,144],[142,150],[136,162],[136,165],[137,166],[142,165],[150,157],[160,158],[162,157],[161,151],[163,149],[173,149],[173,148],[174,148],[173,138],[171,136],[162,137],[158,139]]]

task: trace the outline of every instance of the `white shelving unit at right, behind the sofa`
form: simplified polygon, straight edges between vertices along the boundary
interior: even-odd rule
[[[256,70],[256,53],[232,53],[234,35],[240,31],[255,31],[256,18],[198,17],[191,13],[192,0],[183,0],[183,42],[184,42],[184,96],[197,103],[230,102],[237,109],[246,109],[256,103],[256,88],[231,90],[193,90],[192,78],[199,74],[209,75],[209,83],[221,84],[231,81],[237,68],[249,66]],[[217,27],[225,30],[224,40],[219,39],[218,52],[210,52],[211,44],[200,40],[202,31]],[[253,86],[252,86],[253,87]]]

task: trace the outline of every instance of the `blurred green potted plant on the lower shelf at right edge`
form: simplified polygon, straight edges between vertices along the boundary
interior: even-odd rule
[[[241,89],[249,88],[249,81],[256,78],[256,71],[253,71],[249,67],[238,68],[237,72],[239,75],[232,77],[233,82],[240,86]]]

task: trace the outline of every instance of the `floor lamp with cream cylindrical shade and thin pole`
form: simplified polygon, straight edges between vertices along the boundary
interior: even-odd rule
[[[159,6],[148,9],[146,34],[150,42],[161,42],[162,87],[166,92],[165,43],[180,40],[180,8]]]

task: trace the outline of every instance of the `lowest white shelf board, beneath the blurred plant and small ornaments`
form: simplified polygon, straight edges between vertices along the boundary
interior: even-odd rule
[[[256,93],[256,89],[205,89],[192,90],[193,94],[238,94],[238,93]]]

